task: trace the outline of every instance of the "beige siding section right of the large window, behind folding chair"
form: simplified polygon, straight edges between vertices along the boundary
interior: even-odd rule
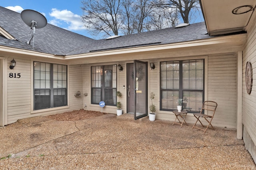
[[[236,128],[237,55],[208,57],[208,100],[218,107],[212,123]]]

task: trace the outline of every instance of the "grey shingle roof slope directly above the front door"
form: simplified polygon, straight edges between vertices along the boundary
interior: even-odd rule
[[[184,41],[210,38],[204,22],[194,23],[182,28],[166,28],[143,33],[124,35],[114,39],[101,39],[92,42],[90,46],[80,47],[68,55],[105,51],[118,48],[139,47],[146,45],[171,44]]]

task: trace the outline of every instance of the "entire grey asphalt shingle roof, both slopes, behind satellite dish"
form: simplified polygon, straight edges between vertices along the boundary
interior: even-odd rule
[[[111,49],[171,44],[213,37],[207,34],[204,22],[193,23],[182,28],[172,27],[124,35],[109,40],[91,39],[48,23],[46,27],[36,29],[33,49],[32,45],[26,43],[30,36],[22,37],[31,34],[32,29],[22,21],[20,13],[0,7],[0,18],[0,27],[15,38],[21,37],[18,39],[19,41],[14,41],[0,36],[0,45],[64,56]]]

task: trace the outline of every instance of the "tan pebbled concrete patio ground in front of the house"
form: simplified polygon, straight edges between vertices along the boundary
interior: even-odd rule
[[[19,120],[0,128],[0,169],[256,169],[234,129],[204,134],[191,124],[129,117]]]

